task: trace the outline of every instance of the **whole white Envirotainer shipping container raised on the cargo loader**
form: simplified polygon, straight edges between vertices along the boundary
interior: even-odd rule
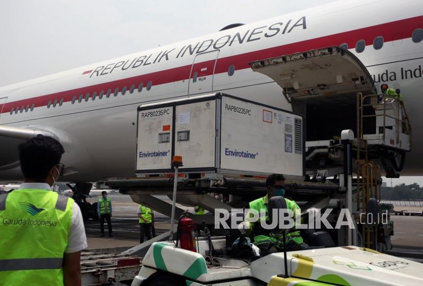
[[[303,118],[225,94],[140,106],[137,174],[180,172],[304,175]]]

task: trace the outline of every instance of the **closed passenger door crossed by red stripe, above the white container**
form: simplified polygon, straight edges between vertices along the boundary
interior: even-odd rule
[[[188,94],[198,94],[213,91],[213,76],[219,50],[209,51],[195,57],[191,67]]]

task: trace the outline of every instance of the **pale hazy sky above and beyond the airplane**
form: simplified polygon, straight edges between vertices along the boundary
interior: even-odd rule
[[[3,0],[0,86],[329,2]],[[423,185],[422,177],[393,185],[403,181]]]

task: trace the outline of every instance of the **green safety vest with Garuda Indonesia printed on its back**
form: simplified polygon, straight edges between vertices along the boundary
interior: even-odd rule
[[[63,285],[74,201],[47,190],[0,195],[0,283]]]

